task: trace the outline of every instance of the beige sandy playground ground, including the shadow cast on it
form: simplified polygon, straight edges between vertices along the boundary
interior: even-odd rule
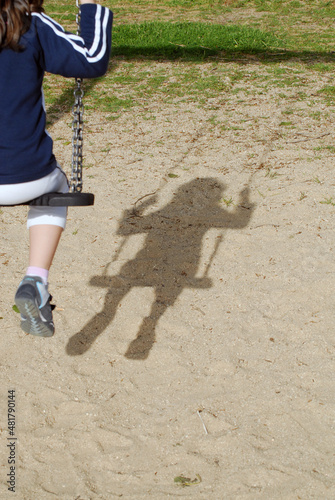
[[[335,498],[334,126],[294,92],[289,127],[280,89],[87,117],[51,339],[12,310],[26,208],[2,209],[1,498]]]

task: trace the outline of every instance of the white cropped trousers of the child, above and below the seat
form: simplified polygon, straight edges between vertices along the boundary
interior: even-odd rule
[[[0,205],[17,205],[46,193],[67,193],[69,184],[65,172],[57,164],[50,174],[31,182],[0,185]],[[60,226],[66,224],[66,207],[29,207],[27,227],[40,224]]]

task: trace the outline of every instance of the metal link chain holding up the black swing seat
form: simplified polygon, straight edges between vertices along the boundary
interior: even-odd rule
[[[80,5],[79,0],[76,0],[78,12],[76,15],[77,22],[77,35],[80,35]],[[70,192],[81,192],[83,189],[83,126],[84,126],[84,105],[82,98],[84,91],[82,89],[82,78],[76,78],[76,85],[74,95],[74,105],[72,107],[72,163],[71,163],[71,180]]]

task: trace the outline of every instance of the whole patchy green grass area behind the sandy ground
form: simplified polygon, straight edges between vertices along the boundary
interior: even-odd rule
[[[85,106],[107,113],[106,119],[117,119],[146,99],[191,99],[204,105],[213,97],[257,95],[274,88],[281,90],[277,99],[283,102],[293,91],[296,100],[311,105],[315,100],[334,102],[333,1],[102,0],[102,4],[115,13],[112,59],[104,78],[85,81]],[[75,31],[74,1],[50,0],[46,8]],[[304,87],[320,75],[324,85],[310,97]],[[71,109],[72,80],[47,75],[45,95],[52,123]]]

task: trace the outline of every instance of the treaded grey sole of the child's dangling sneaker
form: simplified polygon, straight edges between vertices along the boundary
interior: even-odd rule
[[[42,321],[38,306],[31,297],[16,297],[15,304],[22,316],[27,318],[21,321],[21,328],[24,332],[38,337],[52,337],[54,334],[53,325],[48,325]]]

